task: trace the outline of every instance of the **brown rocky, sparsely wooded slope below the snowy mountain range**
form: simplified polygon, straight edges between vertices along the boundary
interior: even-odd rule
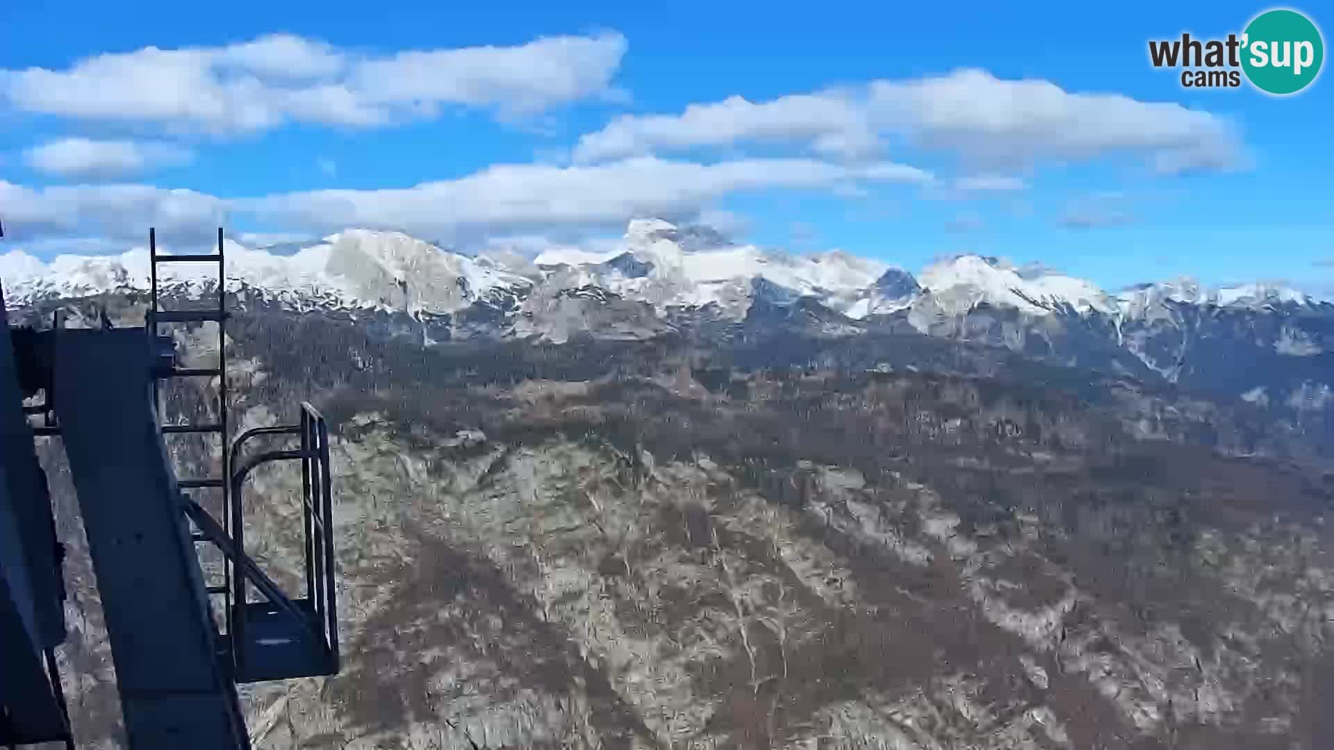
[[[297,398],[336,426],[346,669],[248,687],[256,747],[1334,742],[1334,479],[1254,404],[922,336],[232,330],[239,427]],[[212,386],[188,388],[171,410]],[[299,482],[249,490],[252,554],[284,582]],[[80,554],[69,575],[80,746],[115,747]]]

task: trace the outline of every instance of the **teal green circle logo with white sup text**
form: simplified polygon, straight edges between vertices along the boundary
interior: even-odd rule
[[[1321,29],[1297,11],[1265,11],[1242,33],[1242,69],[1263,92],[1297,93],[1315,80],[1323,61]]]

